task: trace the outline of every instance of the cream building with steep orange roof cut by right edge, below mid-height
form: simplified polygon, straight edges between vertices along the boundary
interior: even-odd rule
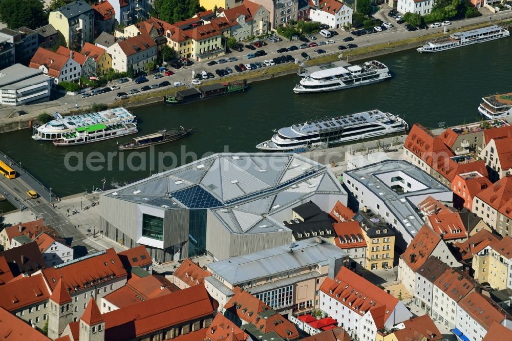
[[[478,193],[473,199],[473,212],[502,236],[510,236],[508,202],[512,199],[512,176],[506,176]]]

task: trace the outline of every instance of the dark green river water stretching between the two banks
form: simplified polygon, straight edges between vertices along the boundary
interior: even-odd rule
[[[144,106],[133,110],[139,118],[139,135],[180,125],[193,126],[196,132],[177,142],[141,150],[146,152],[143,154],[112,154],[117,151],[116,140],[55,147],[51,142],[32,140],[29,130],[0,134],[0,150],[22,162],[24,169],[52,187],[57,195],[66,196],[101,188],[103,179],[106,188],[113,180],[122,183],[147,177],[158,170],[159,157],[164,160],[163,165],[172,166],[206,153],[256,152],[254,146],[269,139],[273,129],[315,117],[377,108],[399,114],[411,125],[419,122],[438,127],[439,122],[473,122],[480,119],[477,108],[481,97],[512,91],[511,55],[510,38],[433,54],[410,50],[378,57],[389,67],[393,78],[370,86],[296,95],[292,88],[300,78],[290,75],[252,83],[247,92],[229,97],[179,106]],[[84,169],[70,171],[66,156],[68,164],[75,168],[80,168],[82,160]],[[91,165],[97,170],[87,167],[87,157],[89,161],[96,160]],[[109,158],[110,164],[106,162]],[[132,171],[129,164],[134,166]]]

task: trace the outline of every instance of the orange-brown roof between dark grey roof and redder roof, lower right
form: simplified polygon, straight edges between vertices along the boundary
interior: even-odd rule
[[[446,269],[434,282],[434,285],[455,302],[462,300],[468,293],[475,289],[478,284],[467,273]]]

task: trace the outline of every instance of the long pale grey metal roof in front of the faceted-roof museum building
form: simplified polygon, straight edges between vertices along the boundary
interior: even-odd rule
[[[334,244],[317,243],[316,238],[304,239],[295,245],[293,252],[290,252],[290,245],[283,245],[206,266],[231,285],[237,285],[307,266],[328,265],[331,259],[348,256]]]

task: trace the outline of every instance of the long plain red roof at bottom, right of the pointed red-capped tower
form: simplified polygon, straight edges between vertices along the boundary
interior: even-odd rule
[[[154,331],[212,316],[217,307],[217,301],[209,296],[204,285],[196,285],[103,314],[105,339],[141,338]]]

